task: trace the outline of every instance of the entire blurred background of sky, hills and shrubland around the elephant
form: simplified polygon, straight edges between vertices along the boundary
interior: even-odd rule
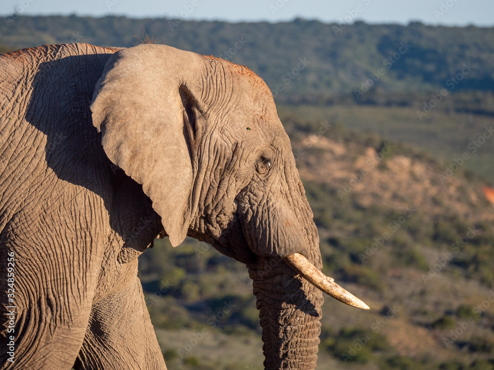
[[[320,369],[494,369],[492,1],[4,0],[0,52],[150,37],[273,92],[314,212]],[[194,239],[140,257],[169,369],[262,369],[244,265]],[[206,329],[206,330],[205,330]]]

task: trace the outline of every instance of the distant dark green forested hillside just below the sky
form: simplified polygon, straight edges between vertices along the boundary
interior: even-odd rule
[[[385,93],[435,92],[450,87],[454,91],[494,90],[494,32],[473,26],[355,22],[343,27],[303,19],[231,24],[113,16],[19,16],[8,25],[0,23],[0,44],[11,48],[64,42],[131,46],[137,42],[134,36],[142,37],[142,28],[159,43],[247,65],[280,98],[352,94],[355,89],[363,91],[362,82],[367,83],[369,74],[378,77],[371,90]],[[473,68],[463,70],[461,80],[451,80],[461,73],[464,63]],[[379,74],[380,68],[383,74]]]

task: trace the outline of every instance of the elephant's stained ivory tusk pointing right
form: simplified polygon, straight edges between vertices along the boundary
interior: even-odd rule
[[[364,310],[370,309],[367,304],[361,301],[353,294],[347,292],[334,282],[333,278],[326,276],[319,271],[312,263],[309,262],[304,256],[299,253],[294,253],[289,256],[282,257],[288,266],[302,275],[309,283],[316,288],[322,290],[324,293],[332,296],[339,301],[346,303],[350,306],[362,308]]]

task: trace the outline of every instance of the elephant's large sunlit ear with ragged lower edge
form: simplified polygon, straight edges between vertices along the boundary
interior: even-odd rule
[[[174,247],[191,222],[198,103],[184,74],[197,57],[165,45],[121,50],[107,62],[91,104],[108,158],[143,185]]]

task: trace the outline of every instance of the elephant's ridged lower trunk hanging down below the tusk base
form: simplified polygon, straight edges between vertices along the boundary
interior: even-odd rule
[[[257,298],[265,369],[315,369],[321,291],[281,258],[260,258],[247,267]]]

